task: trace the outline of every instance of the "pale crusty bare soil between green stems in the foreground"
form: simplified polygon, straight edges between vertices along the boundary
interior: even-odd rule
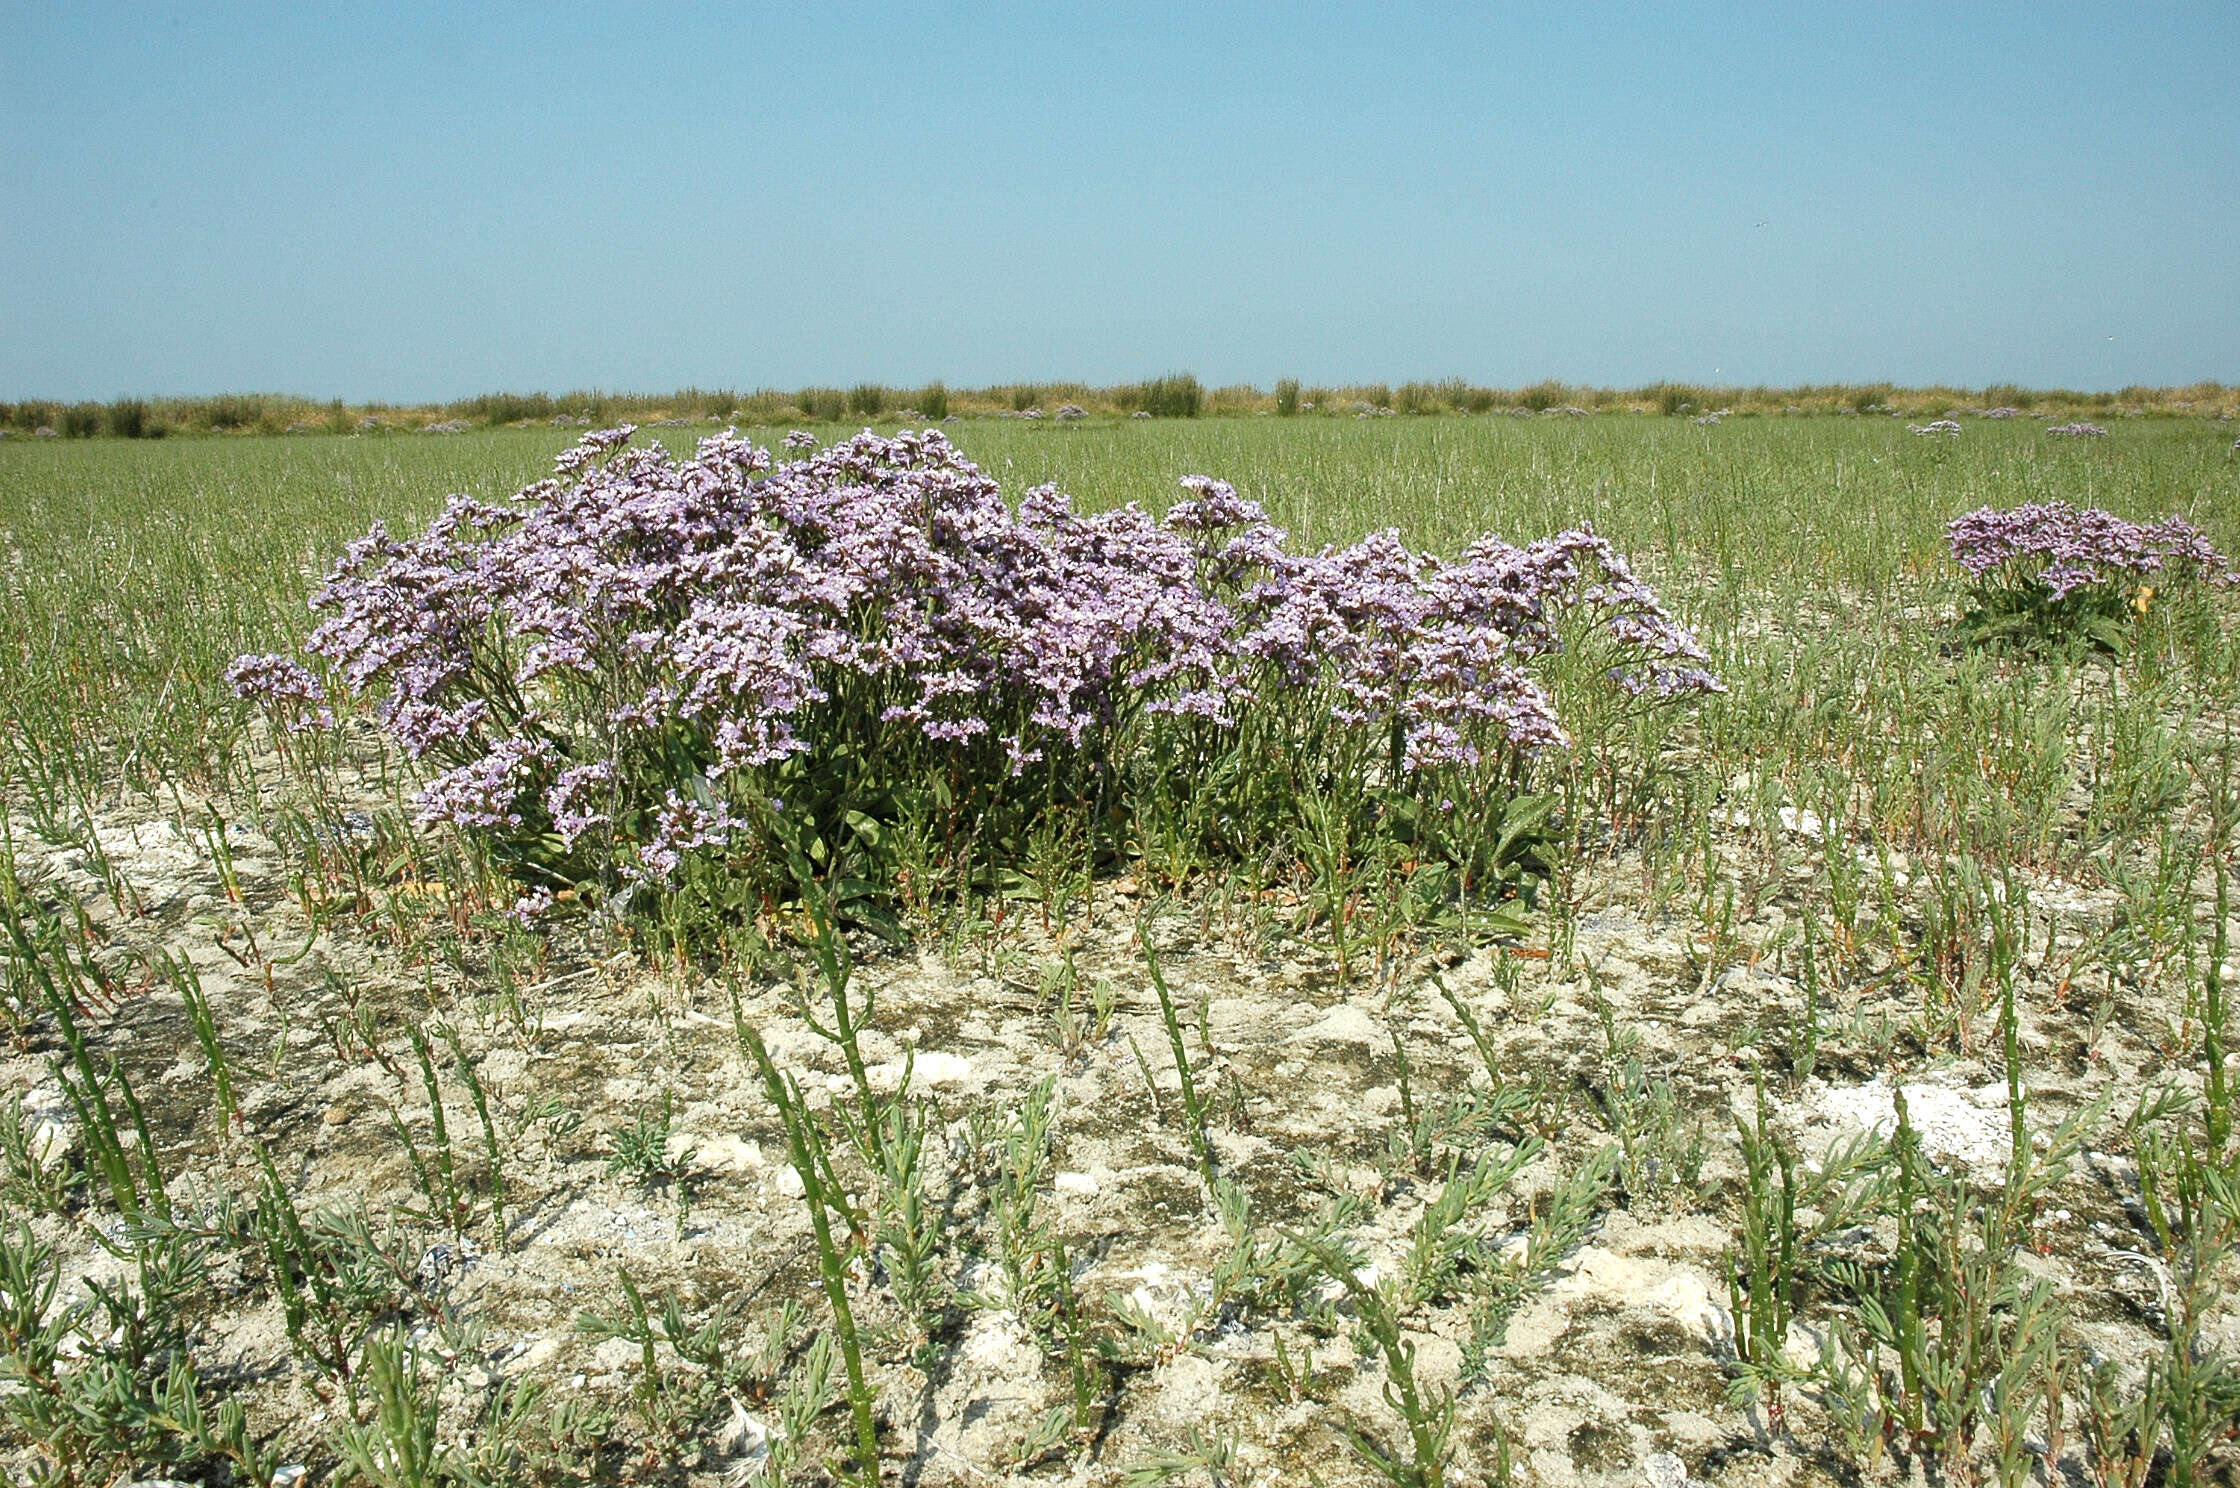
[[[1792,872],[1810,872],[1810,856],[1826,849],[1819,822],[1788,825]],[[27,883],[52,901],[83,903],[108,943],[103,955],[128,982],[132,955],[155,948],[199,968],[242,1087],[246,1132],[280,1159],[298,1206],[363,1206],[376,1226],[396,1221],[421,1255],[430,1295],[441,1293],[448,1309],[484,1324],[479,1358],[455,1360],[448,1401],[464,1407],[502,1378],[538,1378],[551,1385],[553,1403],[612,1403],[627,1436],[638,1351],[576,1329],[587,1309],[618,1311],[620,1264],[647,1295],[674,1289],[690,1315],[726,1298],[744,1318],[784,1298],[822,1315],[802,1185],[784,1161],[773,1107],[741,1058],[721,982],[681,979],[674,968],[650,968],[582,932],[562,932],[544,966],[520,977],[529,991],[508,1008],[475,964],[464,973],[441,961],[405,964],[365,921],[336,921],[305,950],[309,926],[289,894],[282,856],[255,829],[231,831],[244,896],[233,903],[190,834],[146,813],[105,820],[101,845],[139,892],[137,917],[110,901],[83,854],[38,847],[22,829],[16,840]],[[1736,874],[1756,872],[1743,847],[1729,856]],[[1734,1123],[1754,1109],[1763,1069],[1779,1120],[1805,1154],[1866,1127],[1886,1129],[1888,1069],[1902,1062],[1924,1147],[1996,1179],[2009,1138],[1991,1024],[1978,1020],[1964,1055],[1922,1051],[1900,1033],[1915,1013],[1915,993],[1870,964],[1828,991],[1817,1069],[1801,1076],[1792,1069],[1803,1004],[1794,950],[1767,952],[1790,914],[1781,894],[1767,892],[1738,939],[1707,961],[1707,934],[1687,905],[1676,903],[1662,919],[1626,908],[1628,896],[1640,899],[1637,865],[1606,861],[1590,883],[1572,943],[1555,955],[1546,955],[1546,939],[1537,955],[1476,948],[1351,986],[1337,984],[1328,955],[1272,930],[1284,905],[1250,926],[1223,923],[1205,905],[1156,921],[1196,1082],[1214,1112],[1219,1168],[1250,1192],[1261,1239],[1310,1226],[1326,1203],[1355,1194],[1362,1210],[1344,1239],[1366,1257],[1371,1277],[1400,1266],[1411,1226],[1440,1183],[1389,1156],[1402,1125],[1396,1040],[1411,1064],[1409,1100],[1418,1109],[1487,1085],[1469,1033],[1429,982],[1436,973],[1476,1011],[1519,1080],[1546,1076],[1564,1096],[1561,1109],[1543,1114],[1546,1150],[1465,1219],[1519,1255],[1537,1206],[1613,1141],[1597,1091],[1608,1089],[1624,1058],[1637,1058],[1646,1080],[1669,1082],[1671,1094],[1671,1107],[1633,1134],[1649,1154],[1631,1170],[1642,1192],[1613,1188],[1577,1244],[1528,1277],[1485,1376],[1460,1383],[1467,1298],[1407,1318],[1418,1376],[1463,1389],[1452,1481],[1492,1481],[1503,1436],[1514,1481],[1548,1488],[1846,1481],[1808,1396],[1792,1398],[1781,1421],[1729,1398]],[[1234,1477],[1225,1481],[1373,1481],[1335,1427],[1351,1421],[1389,1441],[1400,1432],[1382,1398],[1387,1371],[1357,1351],[1351,1329],[1317,1336],[1297,1318],[1236,1304],[1203,1309],[1210,1277],[1234,1241],[1192,1159],[1167,1033],[1133,943],[1140,901],[1120,892],[1127,887],[1102,885],[1093,923],[1064,948],[1077,973],[1077,1044],[1062,1033],[1044,991],[1062,948],[1039,917],[1026,914],[954,955],[867,948],[858,991],[876,991],[878,1002],[865,1055],[874,1080],[889,1087],[909,1060],[914,1091],[939,1109],[932,1197],[948,1206],[941,1266],[959,1293],[999,1291],[974,1118],[992,1132],[1037,1080],[1055,1078],[1044,1217],[1066,1239],[1075,1291],[1091,1309],[1129,1298],[1178,1338],[1116,1371],[1109,1410],[1100,1410],[1086,1445],[1021,1463],[1021,1443],[1071,1398],[1066,1365],[995,1300],[959,1302],[950,1324],[912,1358],[896,1342],[892,1293],[858,1277],[860,1320],[874,1333],[889,1329],[889,1345],[874,1347],[885,1468],[898,1481],[927,1486],[1118,1484],[1131,1466],[1185,1450],[1196,1430],[1234,1439]],[[2148,1080],[2193,1080],[2195,1071],[2166,1062],[2168,1029],[2180,1017],[2168,993],[2124,988],[2094,1033],[2090,999],[2063,984],[2059,952],[2106,923],[2112,894],[2038,887],[2036,903],[2056,919],[2056,934],[2020,997],[2032,1123],[2052,1125],[2103,1091],[2128,1103]],[[414,885],[414,894],[412,905],[426,908],[441,890]],[[1201,926],[1201,914],[1214,923]],[[244,966],[235,955],[244,921],[271,957],[296,957],[271,968],[269,988],[255,959]],[[336,979],[381,1011],[376,1042],[403,1078],[372,1058],[345,1060],[329,1044],[320,1020],[343,1011]],[[1102,1031],[1098,984],[1111,997]],[[847,1098],[838,1051],[802,1024],[786,986],[750,982],[744,1015],[811,1100]],[[504,1250],[479,1219],[466,1241],[396,1219],[419,1190],[390,1116],[423,1138],[430,1129],[403,1029],[405,1020],[437,1017],[457,1026],[506,1134],[515,1215]],[[139,1082],[177,1174],[175,1199],[253,1188],[249,1145],[220,1129],[202,1053],[168,986],[141,977],[114,1015],[94,1024],[94,1044],[114,1051]],[[38,1038],[11,1047],[0,1060],[0,1094],[25,1103],[49,1159],[63,1161],[76,1134],[54,1055],[56,1047]],[[1158,1105],[1145,1067],[1160,1087]],[[683,1221],[674,1192],[641,1190],[605,1161],[609,1134],[663,1094],[674,1100],[670,1150],[690,1150]],[[448,1071],[444,1098],[455,1132],[470,1132],[466,1091]],[[533,1103],[542,1098],[578,1112],[580,1127],[535,1125]],[[461,1138],[461,1150],[475,1145]],[[2056,1208],[2041,1215],[2029,1266],[2056,1284],[2079,1345],[2137,1365],[2157,1347],[2150,1322],[2162,1280],[2139,1244],[2130,1194],[2128,1159],[2092,1147],[2061,1185]],[[103,1219],[36,1221],[72,1259],[72,1284],[121,1271],[90,1224]],[[1873,1253],[1888,1239],[1861,1233],[1850,1244]],[[278,1432],[287,1461],[332,1466],[323,1441],[338,1407],[289,1363],[276,1304],[240,1275],[220,1275],[217,1293],[231,1300],[197,1324],[204,1371],[235,1380],[258,1425]],[[1340,1289],[1328,1284],[1326,1293],[1337,1298]],[[2240,1342],[2231,1309],[2213,1333]],[[1310,1358],[1304,1389],[1281,1380],[1279,1338],[1292,1365]],[[1792,1329],[1792,1354],[1817,1354],[1810,1309]],[[759,1461],[775,1425],[768,1403],[737,1403],[728,1427],[719,1419],[708,1430],[697,1466],[652,1475],[737,1481]],[[838,1445],[844,1412],[827,1412],[822,1430],[833,1434],[824,1445]],[[2074,1468],[2072,1457],[2063,1470]]]

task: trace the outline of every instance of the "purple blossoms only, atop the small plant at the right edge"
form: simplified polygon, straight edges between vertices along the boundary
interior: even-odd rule
[[[1980,506],[1956,518],[1947,540],[1971,578],[2005,574],[2045,589],[2054,601],[2112,578],[2236,578],[2224,554],[2182,515],[2141,524],[2068,502],[2029,502],[2007,511]]]

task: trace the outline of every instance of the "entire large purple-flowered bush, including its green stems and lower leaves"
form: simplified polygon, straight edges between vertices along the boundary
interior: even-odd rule
[[[735,914],[806,863],[844,903],[986,885],[1051,820],[1113,861],[1178,800],[1245,802],[1221,852],[1284,854],[1286,791],[1460,802],[1499,825],[1568,744],[1550,659],[1617,708],[1718,690],[1593,531],[1460,558],[1396,533],[1290,554],[1228,484],[1165,518],[1017,506],[939,430],[786,459],[587,435],[513,500],[374,527],[311,596],[311,666],[242,657],[276,722],[367,704],[421,820],[515,876]],[[1165,802],[1165,805],[1163,805]]]

